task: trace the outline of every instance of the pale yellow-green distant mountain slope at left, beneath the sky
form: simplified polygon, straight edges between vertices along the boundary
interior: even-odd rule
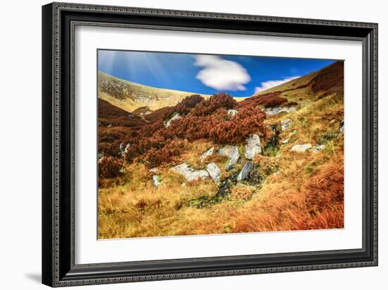
[[[184,97],[195,95],[195,93],[149,87],[99,72],[98,95],[100,99],[126,111],[134,111],[146,106],[154,111],[162,107],[174,106]]]

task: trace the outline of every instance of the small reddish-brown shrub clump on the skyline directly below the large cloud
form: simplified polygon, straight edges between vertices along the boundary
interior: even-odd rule
[[[208,116],[221,108],[235,109],[236,107],[238,107],[238,104],[231,95],[228,95],[225,92],[218,92],[209,99],[205,99],[198,103],[191,114],[193,114],[193,116]]]

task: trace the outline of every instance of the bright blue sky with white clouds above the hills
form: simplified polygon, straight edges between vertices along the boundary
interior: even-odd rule
[[[327,59],[98,51],[98,70],[152,87],[247,97],[332,64]]]

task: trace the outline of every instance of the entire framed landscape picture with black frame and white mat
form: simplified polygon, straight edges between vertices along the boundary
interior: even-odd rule
[[[377,265],[377,24],[42,7],[42,282]]]

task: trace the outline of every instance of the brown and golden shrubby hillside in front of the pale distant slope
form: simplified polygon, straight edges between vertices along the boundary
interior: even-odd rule
[[[114,177],[99,176],[99,238],[343,228],[343,78],[337,62],[238,103],[226,95],[188,98],[150,107],[141,117],[148,109],[139,109],[139,119],[109,107],[114,114],[100,114],[99,153],[123,168],[99,164],[116,170]],[[136,109],[145,106],[140,103]],[[296,109],[264,112],[287,106]],[[228,109],[238,113],[230,116]],[[181,118],[164,126],[176,112]],[[262,153],[251,161],[248,178],[238,180],[249,162],[245,138],[253,133],[260,135]],[[131,143],[125,158],[119,157],[120,143]],[[224,156],[201,158],[224,145],[236,146],[240,155],[231,170]],[[310,147],[294,150],[300,145]],[[216,164],[220,181],[187,181],[172,170],[183,162],[193,170]]]

